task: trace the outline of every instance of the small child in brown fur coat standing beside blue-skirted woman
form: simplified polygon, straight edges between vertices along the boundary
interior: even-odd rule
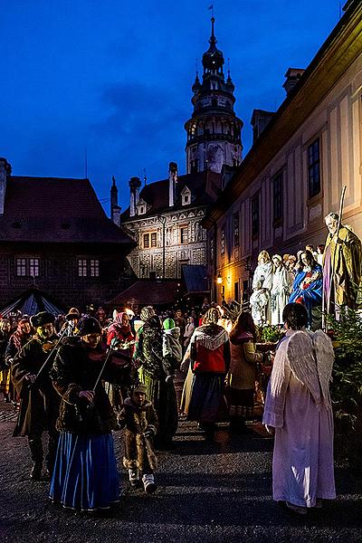
[[[136,386],[119,413],[119,426],[125,428],[123,466],[129,472],[129,483],[133,488],[143,485],[147,494],[157,490],[154,473],[157,456],[153,438],[158,421],[154,406],[147,398],[147,387]]]

